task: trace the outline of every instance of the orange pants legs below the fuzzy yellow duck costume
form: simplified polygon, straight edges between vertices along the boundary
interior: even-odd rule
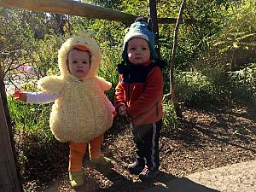
[[[94,138],[89,142],[90,159],[96,159],[102,155],[103,135]],[[82,170],[82,161],[86,151],[87,143],[69,143],[69,172]]]

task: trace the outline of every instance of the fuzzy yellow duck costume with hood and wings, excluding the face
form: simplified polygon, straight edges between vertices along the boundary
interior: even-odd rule
[[[90,52],[90,70],[80,81],[68,71],[67,56],[76,45],[84,45]],[[99,46],[90,33],[69,38],[61,45],[58,64],[61,76],[40,79],[38,88],[49,94],[58,94],[49,117],[49,126],[61,142],[88,143],[107,131],[113,122],[105,90],[111,83],[96,76],[102,60]]]

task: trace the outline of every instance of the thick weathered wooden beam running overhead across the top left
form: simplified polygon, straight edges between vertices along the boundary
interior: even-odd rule
[[[132,23],[137,18],[136,15],[73,0],[0,0],[0,6],[128,23]]]

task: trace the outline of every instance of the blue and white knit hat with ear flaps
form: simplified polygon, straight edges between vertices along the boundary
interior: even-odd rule
[[[143,20],[136,20],[131,24],[129,31],[125,34],[122,57],[124,61],[128,60],[127,43],[131,38],[143,38],[148,41],[150,49],[150,59],[157,59],[158,55],[154,49],[154,32],[150,30],[148,24]]]

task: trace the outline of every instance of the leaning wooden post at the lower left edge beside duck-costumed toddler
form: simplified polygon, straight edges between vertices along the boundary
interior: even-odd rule
[[[0,191],[20,192],[20,182],[4,113],[2,94],[0,94],[0,132]]]

